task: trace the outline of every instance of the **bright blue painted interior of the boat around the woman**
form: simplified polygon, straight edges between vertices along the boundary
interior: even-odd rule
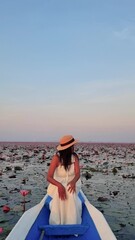
[[[82,202],[81,224],[50,225],[49,203],[52,198],[48,196],[25,240],[101,240],[82,194],[79,193],[78,196]]]

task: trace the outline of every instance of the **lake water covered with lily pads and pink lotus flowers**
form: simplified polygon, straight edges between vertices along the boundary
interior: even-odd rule
[[[0,227],[4,240],[23,213],[46,193],[46,174],[55,143],[0,144]],[[135,240],[135,144],[78,144],[82,190],[107,219],[118,240]],[[10,211],[4,213],[2,206]],[[109,240],[109,239],[108,239]]]

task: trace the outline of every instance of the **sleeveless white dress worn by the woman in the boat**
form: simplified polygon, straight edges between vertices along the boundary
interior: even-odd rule
[[[66,188],[66,200],[61,200],[58,195],[58,188],[49,184],[47,193],[52,197],[50,202],[50,218],[49,224],[81,224],[82,204],[78,197],[78,192],[81,188],[80,179],[76,182],[76,192],[70,193],[67,188],[74,176],[74,156],[72,155],[71,166],[68,171],[64,169],[63,165],[59,165],[54,173],[54,178],[63,184]]]

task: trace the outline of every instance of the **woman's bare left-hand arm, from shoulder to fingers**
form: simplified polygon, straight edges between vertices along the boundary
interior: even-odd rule
[[[59,157],[55,154],[52,158],[52,161],[48,170],[47,181],[58,187],[59,198],[61,200],[65,200],[66,191],[64,186],[60,182],[54,179],[54,172],[55,172],[55,169],[58,167],[58,165],[59,165]]]

